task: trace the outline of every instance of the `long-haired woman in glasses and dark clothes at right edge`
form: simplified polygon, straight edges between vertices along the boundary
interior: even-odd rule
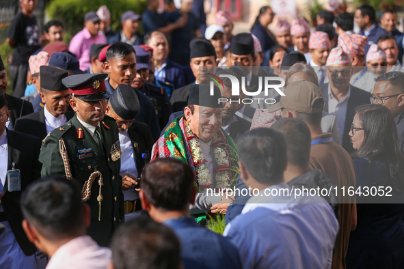
[[[390,110],[381,104],[358,107],[349,136],[356,150],[351,195],[358,225],[349,238],[347,268],[404,268],[404,156]]]

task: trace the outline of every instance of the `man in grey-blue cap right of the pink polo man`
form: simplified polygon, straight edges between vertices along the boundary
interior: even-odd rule
[[[124,12],[120,17],[122,31],[109,40],[109,44],[115,42],[125,42],[131,46],[143,44],[143,36],[139,33],[139,20],[141,16],[137,15],[132,10]]]

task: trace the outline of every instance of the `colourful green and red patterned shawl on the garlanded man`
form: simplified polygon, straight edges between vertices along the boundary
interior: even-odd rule
[[[212,186],[202,186],[202,184],[200,184],[198,181],[196,168],[197,164],[194,162],[191,152],[191,145],[189,143],[194,136],[193,134],[189,137],[187,136],[185,124],[185,117],[180,115],[174,120],[174,122],[172,122],[172,124],[170,124],[170,126],[167,127],[164,135],[160,137],[156,143],[154,143],[151,162],[157,158],[170,157],[178,158],[184,162],[187,162],[187,164],[191,166],[191,169],[195,175],[198,190],[200,192],[204,192],[206,188],[211,188]],[[226,132],[224,132],[222,128],[219,128],[219,131],[216,133],[212,142],[213,151],[215,147],[221,147],[226,151],[227,156],[229,156],[230,163],[228,165],[217,165],[217,161],[215,160],[215,156],[212,152],[213,173],[230,173],[230,182],[228,182],[228,188],[235,186],[237,175],[239,175],[237,144]],[[212,178],[215,178],[215,175],[213,175]]]

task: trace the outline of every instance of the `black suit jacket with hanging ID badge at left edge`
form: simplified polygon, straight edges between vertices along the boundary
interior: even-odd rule
[[[14,236],[21,246],[25,255],[33,255],[36,247],[29,242],[21,222],[23,221],[23,213],[20,208],[21,193],[27,188],[31,182],[40,178],[40,162],[38,156],[40,153],[41,140],[38,137],[25,135],[21,132],[14,132],[5,129],[8,139],[8,166],[12,169],[12,162],[15,163],[15,169],[21,171],[21,190],[8,191],[8,178],[5,178],[3,195],[1,197],[1,205],[3,206],[5,216],[14,233]],[[1,160],[3,161],[3,160]]]

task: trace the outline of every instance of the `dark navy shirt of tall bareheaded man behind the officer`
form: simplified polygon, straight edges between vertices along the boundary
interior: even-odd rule
[[[115,90],[111,87],[108,80],[105,81],[105,86],[111,94]],[[139,90],[135,88],[133,88],[133,90],[135,91],[135,94],[139,99],[141,107],[139,113],[137,113],[136,115],[136,120],[137,122],[144,122],[145,124],[147,124],[150,127],[150,131],[152,132],[154,141],[157,141],[160,135],[160,126],[152,101],[146,95],[142,94]]]

